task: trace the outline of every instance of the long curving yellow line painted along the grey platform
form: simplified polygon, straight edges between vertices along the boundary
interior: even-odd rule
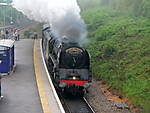
[[[37,46],[37,41],[34,41],[34,68],[35,68],[36,81],[37,81],[38,91],[39,91],[39,95],[40,95],[40,100],[41,100],[43,112],[51,113],[49,104],[47,101],[48,99],[46,97],[46,93],[45,93],[45,90],[43,87],[43,82],[41,80],[40,68],[39,68],[38,59],[37,59],[36,46]]]

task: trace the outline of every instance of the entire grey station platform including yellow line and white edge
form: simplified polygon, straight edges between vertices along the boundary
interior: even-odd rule
[[[15,42],[15,71],[2,78],[0,113],[64,113],[43,57],[40,40]]]

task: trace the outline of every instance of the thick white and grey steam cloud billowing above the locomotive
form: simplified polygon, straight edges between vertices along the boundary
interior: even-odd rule
[[[86,38],[86,26],[76,0],[13,0],[14,7],[28,18],[48,23],[57,37],[79,42]]]

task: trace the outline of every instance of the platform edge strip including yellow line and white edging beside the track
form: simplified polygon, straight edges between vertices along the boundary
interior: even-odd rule
[[[57,98],[54,87],[52,87],[52,84],[50,82],[50,78],[48,78],[49,75],[46,73],[46,69],[44,67],[40,48],[40,40],[35,41],[35,51],[36,52],[34,53],[34,64],[35,70],[38,70],[36,71],[36,76],[38,81],[38,87],[40,87],[39,93],[43,110],[45,113],[64,113],[64,109],[62,108],[62,105]],[[36,64],[38,66],[36,66]]]

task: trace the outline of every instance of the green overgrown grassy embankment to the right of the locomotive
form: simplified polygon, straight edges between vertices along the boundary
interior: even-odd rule
[[[92,56],[93,75],[123,93],[143,113],[149,113],[150,1],[141,0],[138,5],[134,4],[139,7],[138,13],[130,6],[136,0],[126,0],[128,5],[130,3],[128,13],[123,10],[125,6],[120,6],[118,11],[115,2],[111,5],[109,0],[106,1],[101,1],[105,7],[95,4],[96,8],[82,8],[90,38],[87,48]],[[142,5],[144,8],[140,3],[146,3]]]

